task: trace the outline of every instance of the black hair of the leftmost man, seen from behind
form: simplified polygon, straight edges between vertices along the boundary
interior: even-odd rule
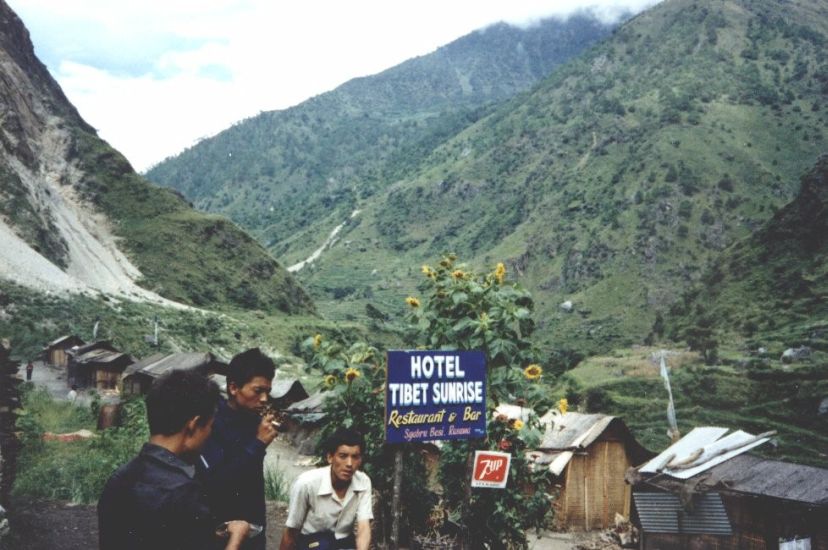
[[[195,416],[203,426],[215,415],[218,401],[215,382],[193,370],[172,370],[156,380],[147,394],[150,434],[176,434]]]

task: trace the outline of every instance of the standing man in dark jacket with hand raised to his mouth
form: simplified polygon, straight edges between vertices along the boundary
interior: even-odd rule
[[[197,466],[211,509],[222,520],[244,519],[265,527],[264,457],[276,438],[273,416],[263,411],[276,368],[258,348],[233,357],[227,372],[227,401],[220,402],[213,433]],[[264,550],[264,532],[245,550]]]

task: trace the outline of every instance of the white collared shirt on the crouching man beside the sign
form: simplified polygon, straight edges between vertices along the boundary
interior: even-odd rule
[[[301,474],[290,490],[288,518],[285,525],[301,528],[302,534],[333,531],[336,538],[354,532],[354,523],[374,517],[371,508],[371,478],[356,471],[351,484],[340,499],[331,484],[331,467],[317,468]]]

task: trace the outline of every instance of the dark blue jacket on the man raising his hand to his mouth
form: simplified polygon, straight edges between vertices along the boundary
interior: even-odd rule
[[[213,431],[198,461],[210,510],[221,521],[244,519],[265,526],[264,457],[266,445],[256,438],[261,418],[219,403]],[[264,548],[265,534],[249,539],[245,549]]]

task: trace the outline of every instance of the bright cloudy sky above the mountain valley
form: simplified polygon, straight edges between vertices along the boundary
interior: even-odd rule
[[[138,171],[262,111],[477,29],[659,0],[7,0],[81,116]]]

